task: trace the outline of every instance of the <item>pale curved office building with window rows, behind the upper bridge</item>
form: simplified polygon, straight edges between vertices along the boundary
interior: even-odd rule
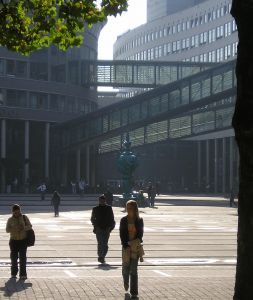
[[[231,0],[156,2],[148,1],[148,13],[155,14],[161,6],[167,15],[151,18],[119,36],[114,59],[222,62],[236,56],[238,37],[230,15]],[[173,13],[163,10],[163,5]]]

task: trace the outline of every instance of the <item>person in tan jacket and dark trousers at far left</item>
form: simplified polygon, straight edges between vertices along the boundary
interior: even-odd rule
[[[10,233],[10,257],[11,257],[11,278],[17,278],[18,259],[19,259],[19,278],[27,279],[26,273],[26,252],[27,241],[26,231],[31,229],[32,225],[26,215],[22,215],[20,206],[14,204],[12,206],[12,217],[6,224],[6,232]]]

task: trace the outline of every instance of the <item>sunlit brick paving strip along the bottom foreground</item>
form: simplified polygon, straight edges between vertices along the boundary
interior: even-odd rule
[[[230,300],[233,281],[228,278],[140,278],[139,299]],[[0,299],[110,300],[130,299],[121,278],[0,279]]]

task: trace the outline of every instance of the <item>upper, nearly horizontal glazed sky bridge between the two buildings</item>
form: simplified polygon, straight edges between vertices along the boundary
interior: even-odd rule
[[[84,86],[155,88],[212,68],[217,63],[94,60],[82,61]]]

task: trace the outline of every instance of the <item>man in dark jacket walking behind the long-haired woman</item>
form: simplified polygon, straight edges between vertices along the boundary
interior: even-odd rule
[[[98,261],[104,263],[110,233],[115,227],[113,210],[110,205],[106,204],[105,195],[99,197],[99,205],[92,209],[91,223],[98,242]]]

